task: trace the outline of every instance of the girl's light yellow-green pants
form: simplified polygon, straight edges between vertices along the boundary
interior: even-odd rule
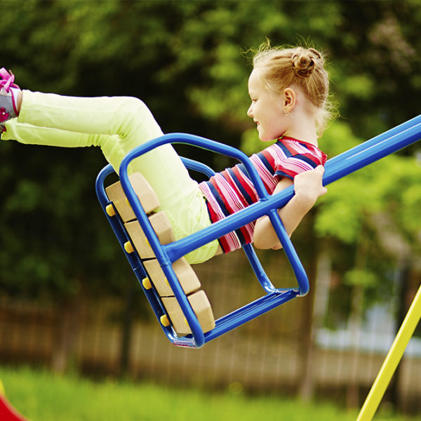
[[[99,146],[118,173],[120,163],[134,147],[163,135],[147,106],[137,98],[76,98],[23,91],[18,119],[6,123],[2,140],[58,147]],[[135,159],[129,173],[145,176],[171,220],[175,239],[208,227],[206,202],[197,182],[189,177],[171,145],[163,145]],[[215,255],[212,241],[186,255],[199,263]]]

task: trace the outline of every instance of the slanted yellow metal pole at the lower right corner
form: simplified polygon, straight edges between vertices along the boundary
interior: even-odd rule
[[[358,415],[356,421],[371,421],[373,420],[375,411],[382,400],[383,395],[386,392],[387,386],[389,385],[392,375],[396,370],[396,367],[401,361],[403,352],[405,352],[406,345],[414,333],[417,327],[418,321],[421,319],[421,286],[418,288],[417,295],[409,307],[408,313],[403,320],[402,326],[399,329],[398,334],[389,349],[389,353],[386,356],[385,362],[380,368],[379,373],[370,389],[370,393],[364,402],[363,407]]]

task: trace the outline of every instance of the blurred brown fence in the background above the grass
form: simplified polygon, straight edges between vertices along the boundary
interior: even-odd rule
[[[276,260],[269,266],[269,276],[276,274],[276,286],[291,282],[285,262]],[[262,295],[241,253],[221,256],[194,268],[216,317]],[[316,302],[317,294],[319,298],[320,294],[326,295],[326,288],[316,288]],[[121,323],[123,299],[93,302],[79,298],[76,303],[59,307],[54,303],[17,301],[3,294],[0,363],[43,364],[59,370],[70,367],[90,375],[123,373],[134,380],[206,389],[222,387],[238,393],[293,396],[306,382],[314,396],[325,396],[344,406],[360,406],[387,353],[387,347],[379,346],[379,333],[385,323],[394,321],[385,319],[387,312],[377,312],[377,316],[369,318],[371,333],[360,332],[359,347],[349,340],[346,329],[328,331],[314,326],[314,346],[308,354],[303,347],[302,314],[311,299],[288,302],[202,349],[185,349],[171,345],[152,317],[146,320],[135,316],[128,335]],[[314,311],[319,311],[317,305]],[[389,330],[392,332],[394,326]],[[408,351],[412,352],[405,354],[385,396],[385,401],[392,400],[400,410],[410,413],[421,413],[418,341],[411,340]],[[310,355],[309,370],[303,366],[306,353]]]

